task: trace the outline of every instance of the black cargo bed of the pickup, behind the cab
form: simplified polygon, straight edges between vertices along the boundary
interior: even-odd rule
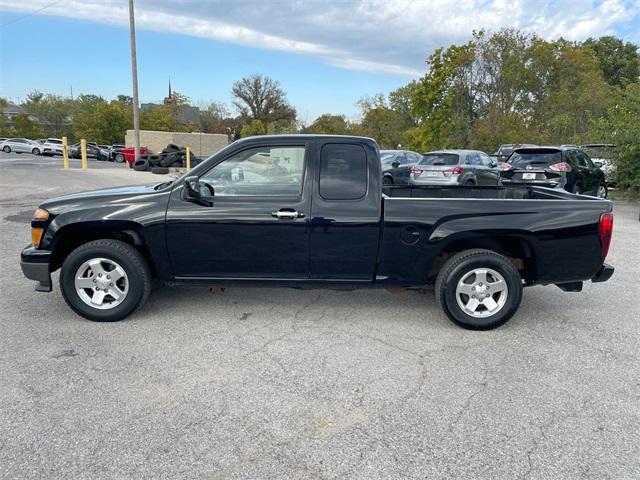
[[[511,251],[531,262],[530,283],[590,279],[604,261],[600,215],[612,209],[596,197],[532,186],[384,187],[382,203],[377,280],[408,276],[413,284],[432,281],[424,265],[457,244]]]

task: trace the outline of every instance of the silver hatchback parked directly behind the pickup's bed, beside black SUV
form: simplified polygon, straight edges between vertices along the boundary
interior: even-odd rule
[[[425,153],[409,175],[412,185],[498,185],[500,168],[479,150],[442,150]]]

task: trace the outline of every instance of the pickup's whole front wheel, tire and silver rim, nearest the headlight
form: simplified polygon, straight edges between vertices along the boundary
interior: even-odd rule
[[[131,245],[120,240],[95,240],[66,258],[60,289],[78,315],[96,322],[115,322],[146,302],[151,273],[146,260]]]

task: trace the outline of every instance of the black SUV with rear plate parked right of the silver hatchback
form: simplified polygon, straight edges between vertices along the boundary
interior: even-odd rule
[[[526,184],[563,188],[607,198],[603,171],[574,146],[518,148],[501,164],[503,185]]]

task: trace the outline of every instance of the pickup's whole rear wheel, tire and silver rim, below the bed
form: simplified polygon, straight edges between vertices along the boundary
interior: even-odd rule
[[[451,257],[438,273],[436,300],[449,319],[470,330],[506,323],[522,300],[522,279],[513,264],[491,250],[474,249]]]

